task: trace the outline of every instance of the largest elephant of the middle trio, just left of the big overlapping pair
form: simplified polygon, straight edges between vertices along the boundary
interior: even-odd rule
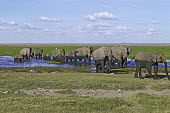
[[[82,62],[82,59],[84,59],[84,62],[88,61],[88,63],[91,63],[91,55],[93,52],[93,47],[83,47],[83,48],[78,48],[76,53],[76,59],[79,59],[79,61]]]

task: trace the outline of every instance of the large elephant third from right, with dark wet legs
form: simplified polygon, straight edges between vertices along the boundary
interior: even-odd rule
[[[111,72],[112,50],[110,47],[101,47],[92,53],[95,61],[96,72]]]

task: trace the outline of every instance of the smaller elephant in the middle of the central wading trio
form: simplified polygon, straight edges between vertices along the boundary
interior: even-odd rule
[[[76,53],[76,50],[68,50],[65,54],[66,62],[70,60],[70,62],[74,61],[74,63],[76,63]]]

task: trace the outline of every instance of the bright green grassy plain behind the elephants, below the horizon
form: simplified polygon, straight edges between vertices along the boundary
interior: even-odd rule
[[[104,45],[103,45],[104,46]],[[108,45],[107,45],[108,46]],[[109,45],[115,46],[115,45]],[[55,48],[64,48],[65,50],[74,50],[80,47],[90,47],[90,45],[0,45],[0,56],[14,56],[19,53],[19,51],[24,47],[32,47],[33,50],[36,48],[42,48],[44,50],[44,54],[52,54],[52,51]],[[101,47],[101,45],[93,45],[94,50]],[[138,51],[141,50],[155,50],[161,51],[165,54],[167,59],[170,59],[170,46],[128,46],[132,49],[132,53],[129,58],[133,58]]]

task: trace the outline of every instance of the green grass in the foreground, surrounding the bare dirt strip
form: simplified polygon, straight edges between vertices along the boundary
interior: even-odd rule
[[[135,79],[133,74],[101,73],[0,73],[1,113],[164,113],[170,112],[170,95],[139,93],[131,97],[78,96],[73,89],[143,90],[170,89],[167,78]],[[66,89],[60,95],[15,93],[30,89]],[[3,93],[9,91],[9,93]]]

